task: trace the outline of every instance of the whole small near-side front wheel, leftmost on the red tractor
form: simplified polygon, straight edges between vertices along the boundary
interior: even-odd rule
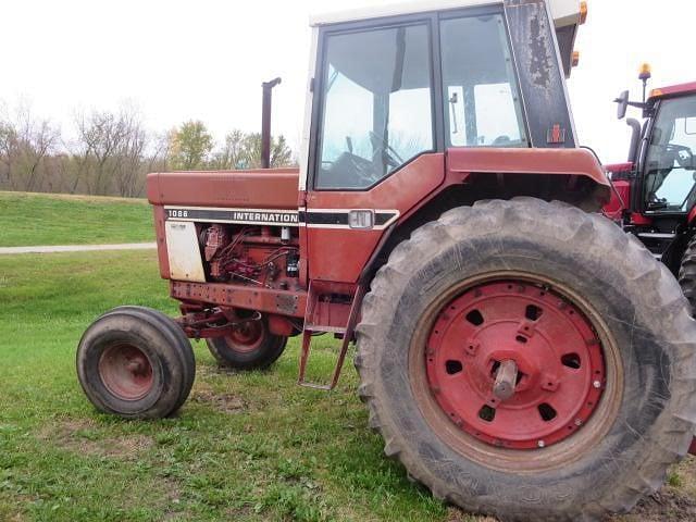
[[[159,419],[186,401],[196,363],[190,343],[166,315],[120,307],[101,315],[77,348],[77,375],[85,394],[105,413]]]

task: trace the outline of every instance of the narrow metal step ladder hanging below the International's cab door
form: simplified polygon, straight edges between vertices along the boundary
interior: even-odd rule
[[[358,285],[350,302],[348,323],[345,326],[313,324],[312,321],[314,318],[314,310],[319,301],[319,295],[312,291],[312,285],[310,283],[307,299],[307,312],[304,313],[304,330],[302,331],[302,349],[300,351],[300,370],[297,378],[297,384],[308,388],[323,389],[326,391],[330,391],[336,387],[336,385],[338,384],[338,377],[340,376],[340,371],[344,366],[344,361],[346,360],[348,347],[352,341],[356,323],[358,322],[358,313],[360,311],[360,304],[362,303],[364,289],[361,285]],[[334,366],[334,371],[328,384],[312,383],[307,381],[306,378],[307,363],[311,353],[312,337],[316,334],[322,333],[334,334],[336,336],[343,337],[338,358],[336,359],[336,365]]]

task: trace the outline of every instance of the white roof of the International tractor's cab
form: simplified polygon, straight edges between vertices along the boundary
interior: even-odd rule
[[[580,23],[580,0],[546,0],[551,8],[556,27],[576,25]],[[445,11],[448,9],[470,8],[476,5],[500,5],[501,0],[417,0],[384,5],[348,9],[345,11],[319,14],[310,18],[310,25],[328,25],[343,22],[397,16],[400,14]]]

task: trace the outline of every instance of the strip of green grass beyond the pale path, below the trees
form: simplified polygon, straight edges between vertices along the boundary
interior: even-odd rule
[[[0,247],[153,241],[144,199],[0,192]]]

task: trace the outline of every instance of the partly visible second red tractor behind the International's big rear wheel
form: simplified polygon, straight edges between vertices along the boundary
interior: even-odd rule
[[[644,122],[629,119],[633,129],[626,163],[607,165],[614,185],[605,213],[621,222],[678,275],[696,224],[696,83],[652,89],[643,65],[644,101],[616,100],[619,119],[629,107],[643,111]]]

